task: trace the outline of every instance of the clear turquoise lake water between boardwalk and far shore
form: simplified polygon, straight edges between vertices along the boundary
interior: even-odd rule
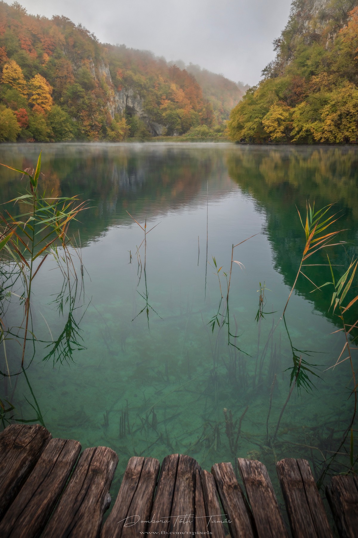
[[[2,145],[0,162],[34,166],[40,149]],[[38,406],[53,436],[76,438],[84,448],[113,448],[119,455],[117,480],[130,456],[162,460],[174,452],[193,456],[207,469],[235,456],[258,458],[272,477],[277,459],[304,457],[318,478],[324,460],[339,449],[329,472],[349,467],[348,443],[340,447],[354,405],[348,399],[349,365],[327,370],[344,343],[334,332],[337,317],[328,312],[332,292],[312,294],[310,282],[300,277],[286,313],[287,330],[281,322],[266,343],[302,255],[295,206],[304,212],[308,199],[317,207],[337,202],[342,214],[337,226],[347,229],[340,236],[347,243],[332,251],[337,273],[356,252],[355,148],[59,144],[42,149],[47,192],[90,200],[91,208],[76,224],[86,272],[77,295],[74,289],[71,294],[78,345],[72,342],[72,354],[62,364],[58,353],[42,360],[52,346],[41,342],[56,341],[68,320],[69,303],[59,315],[54,302],[61,273],[49,260],[34,281],[34,358],[28,345],[27,379],[12,377],[11,386],[8,378],[1,381],[14,418],[34,419]],[[19,175],[5,168],[0,174],[2,201],[23,192]],[[147,236],[145,272],[143,247],[142,272],[135,254],[143,231],[126,211],[142,225],[147,218],[147,229],[156,226]],[[218,312],[222,323],[225,311],[212,257],[222,266],[226,296],[223,272],[230,270],[231,246],[254,234],[234,251],[244,266],[233,265],[229,299],[230,342],[238,350],[228,344],[227,324],[211,331],[210,320]],[[315,263],[325,263],[324,256]],[[309,276],[322,284],[329,274],[312,267]],[[257,290],[264,281],[268,314],[257,324]],[[6,325],[15,327],[22,307],[15,296],[5,303]],[[288,334],[295,348],[310,350],[303,358],[319,365],[320,377],[310,376],[311,392],[295,388],[272,442],[290,390]],[[9,340],[6,349],[16,373],[20,345]],[[224,408],[228,417],[232,413],[231,446]]]

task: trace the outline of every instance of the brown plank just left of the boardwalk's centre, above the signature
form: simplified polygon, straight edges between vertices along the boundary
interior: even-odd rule
[[[148,531],[151,533],[169,532],[178,464],[179,454],[166,456],[163,460],[156,496],[150,514],[150,520],[152,522],[148,525]]]

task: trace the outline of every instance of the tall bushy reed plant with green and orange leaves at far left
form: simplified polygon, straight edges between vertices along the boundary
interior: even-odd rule
[[[49,254],[53,253],[52,247],[59,245],[63,252],[65,263],[65,276],[77,278],[75,265],[72,260],[69,246],[71,241],[68,230],[72,221],[76,220],[80,211],[86,204],[79,202],[77,197],[52,197],[39,193],[39,179],[41,172],[41,153],[34,170],[20,170],[8,165],[2,165],[11,171],[27,176],[30,185],[26,193],[18,196],[10,203],[18,204],[26,210],[19,216],[12,216],[7,209],[0,215],[0,251],[2,265],[13,268],[17,267],[18,274],[23,282],[23,292],[20,301],[24,305],[24,317],[18,327],[18,335],[24,331],[21,340],[21,368],[24,366],[25,350],[30,334],[34,338],[32,327],[32,286],[42,265]],[[12,290],[10,288],[10,293]],[[6,330],[2,320],[0,324],[0,342],[5,345],[5,339],[10,331]],[[5,354],[6,356],[6,354]],[[10,376],[9,364],[7,364]]]

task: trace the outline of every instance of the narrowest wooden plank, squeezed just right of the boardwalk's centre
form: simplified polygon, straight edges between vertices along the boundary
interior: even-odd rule
[[[214,477],[208,471],[202,470],[200,480],[207,514],[206,530],[211,532],[210,536],[213,536],[213,538],[225,538],[225,530],[222,524],[225,518],[221,513]]]

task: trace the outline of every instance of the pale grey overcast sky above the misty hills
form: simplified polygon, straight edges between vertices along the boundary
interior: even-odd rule
[[[12,0],[6,0],[8,4]],[[64,15],[101,43],[198,63],[250,85],[274,58],[291,0],[18,0],[28,13]]]

